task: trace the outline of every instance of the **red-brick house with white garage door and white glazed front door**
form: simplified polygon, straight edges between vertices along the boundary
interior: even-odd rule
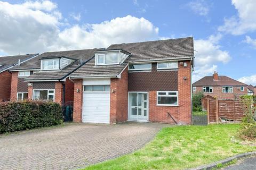
[[[114,44],[94,54],[67,76],[74,122],[191,124],[193,38]]]

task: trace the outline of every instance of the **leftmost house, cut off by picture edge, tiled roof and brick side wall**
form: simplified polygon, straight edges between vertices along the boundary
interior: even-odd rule
[[[0,57],[0,100],[10,100],[12,74],[9,72],[15,65],[31,60],[38,54],[26,54]]]

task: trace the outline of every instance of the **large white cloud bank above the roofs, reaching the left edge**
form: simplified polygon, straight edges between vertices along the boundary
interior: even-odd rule
[[[10,4],[0,1],[0,50],[26,54],[51,50],[107,47],[158,39],[158,28],[145,18],[127,15],[101,23],[70,25],[50,1]],[[60,27],[66,26],[62,30]]]

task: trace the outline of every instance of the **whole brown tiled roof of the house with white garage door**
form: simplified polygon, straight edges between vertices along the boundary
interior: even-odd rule
[[[157,41],[146,41],[141,43],[114,44],[108,50],[122,50],[129,54],[124,63],[119,65],[95,66],[95,58],[84,64],[71,74],[72,78],[78,77],[117,77],[129,62],[148,60],[174,60],[175,58],[194,57],[193,38],[179,38]]]

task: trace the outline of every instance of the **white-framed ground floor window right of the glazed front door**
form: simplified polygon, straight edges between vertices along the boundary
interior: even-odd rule
[[[157,91],[157,105],[178,106],[178,91]]]

